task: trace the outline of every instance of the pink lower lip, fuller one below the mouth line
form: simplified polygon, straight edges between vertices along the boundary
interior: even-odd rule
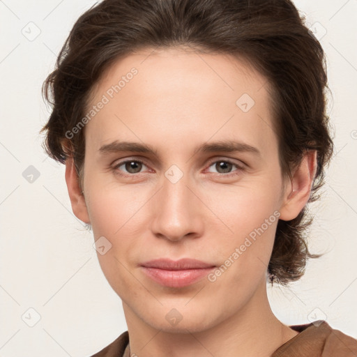
[[[215,267],[186,269],[183,271],[167,271],[159,268],[148,268],[146,266],[142,266],[142,268],[149,278],[165,287],[187,287],[204,278]]]

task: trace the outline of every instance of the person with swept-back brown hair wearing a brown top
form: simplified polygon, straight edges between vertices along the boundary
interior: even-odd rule
[[[301,278],[307,204],[333,153],[326,59],[289,0],[104,0],[43,86],[47,153],[123,302],[93,356],[357,356],[287,326],[266,287]]]

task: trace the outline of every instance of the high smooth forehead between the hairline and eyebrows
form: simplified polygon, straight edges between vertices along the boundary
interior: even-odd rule
[[[117,60],[93,86],[87,112],[105,105],[88,122],[86,139],[98,150],[114,139],[167,148],[182,146],[183,139],[245,137],[264,150],[276,139],[267,89],[245,59],[183,48],[142,50]]]

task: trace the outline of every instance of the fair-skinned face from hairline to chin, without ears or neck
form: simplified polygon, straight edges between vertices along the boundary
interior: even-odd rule
[[[127,316],[193,332],[259,305],[285,197],[266,87],[243,60],[171,48],[117,61],[93,88],[86,212]],[[208,268],[143,267],[183,258]]]

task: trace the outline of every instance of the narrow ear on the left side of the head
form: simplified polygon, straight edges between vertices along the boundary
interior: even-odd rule
[[[84,195],[79,187],[79,178],[72,156],[66,159],[66,183],[73,213],[75,213],[75,216],[79,218],[79,220],[89,224],[91,221],[89,220]]]

